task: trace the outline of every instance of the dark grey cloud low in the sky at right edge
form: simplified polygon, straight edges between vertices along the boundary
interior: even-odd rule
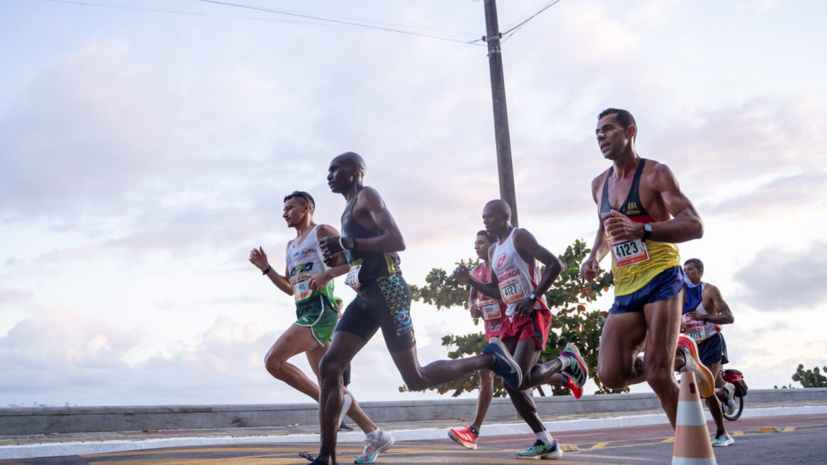
[[[770,246],[759,250],[734,278],[746,289],[743,300],[757,310],[816,308],[827,300],[825,256],[827,243],[822,241],[798,251],[780,244]]]

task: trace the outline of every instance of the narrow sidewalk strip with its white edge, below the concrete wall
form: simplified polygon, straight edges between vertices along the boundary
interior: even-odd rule
[[[827,413],[827,402],[788,401],[777,405],[746,405],[742,418],[778,415],[810,415]],[[706,412],[707,420],[711,420]],[[397,441],[443,439],[447,430],[467,425],[471,419],[415,420],[378,423],[381,429],[394,434]],[[638,410],[576,415],[543,415],[543,422],[552,432],[604,429],[639,425],[667,424],[661,410]],[[485,435],[531,434],[522,420],[489,417],[483,425]],[[341,442],[361,442],[364,434],[355,430],[339,433]],[[0,459],[38,458],[86,453],[112,453],[129,450],[198,446],[207,444],[251,443],[318,443],[318,425],[288,425],[256,428],[165,429],[117,431],[104,433],[27,434],[0,436]]]

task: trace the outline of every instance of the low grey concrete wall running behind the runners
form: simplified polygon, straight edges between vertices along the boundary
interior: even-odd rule
[[[654,394],[616,394],[535,397],[540,415],[567,415],[609,411],[660,409]],[[747,406],[781,402],[827,404],[827,388],[753,389],[744,397]],[[363,402],[362,408],[377,423],[409,420],[472,418],[476,399]],[[488,415],[516,418],[508,399],[491,402]],[[318,406],[104,406],[0,408],[0,435],[141,431],[145,429],[210,429],[256,426],[318,425]]]

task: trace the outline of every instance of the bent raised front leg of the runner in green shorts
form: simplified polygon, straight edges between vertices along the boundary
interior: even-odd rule
[[[313,330],[307,326],[290,325],[265,356],[265,368],[273,377],[318,401],[318,386],[299,368],[287,360],[294,355],[318,348]],[[309,355],[308,355],[309,357]],[[311,367],[313,364],[311,364]]]

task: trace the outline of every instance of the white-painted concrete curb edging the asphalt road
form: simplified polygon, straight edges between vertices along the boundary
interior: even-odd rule
[[[752,408],[743,411],[743,418],[772,417],[782,415],[814,415],[827,413],[827,406],[798,406]],[[711,420],[706,412],[707,420]],[[584,429],[625,428],[643,425],[665,425],[668,423],[664,414],[628,415],[610,418],[586,418],[576,420],[547,421],[544,423],[552,432],[579,431]],[[445,439],[447,428],[389,429],[397,441],[414,441],[420,439]],[[485,435],[499,436],[505,434],[532,434],[524,423],[485,425]],[[361,441],[361,433],[340,433],[341,442]],[[153,448],[189,447],[216,444],[280,444],[308,443],[318,444],[318,434],[286,434],[271,436],[195,436],[186,438],[136,439],[112,441],[66,442],[50,444],[26,444],[0,446],[0,459],[44,458],[89,453],[114,453]]]

